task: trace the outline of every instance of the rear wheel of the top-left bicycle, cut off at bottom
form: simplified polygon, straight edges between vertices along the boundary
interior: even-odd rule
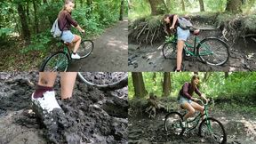
[[[65,72],[68,69],[68,55],[65,52],[54,52],[50,57],[44,60],[40,72]]]

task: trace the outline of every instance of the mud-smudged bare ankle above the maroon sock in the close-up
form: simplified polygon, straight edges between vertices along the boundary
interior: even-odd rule
[[[57,72],[40,72],[38,85],[53,87]]]

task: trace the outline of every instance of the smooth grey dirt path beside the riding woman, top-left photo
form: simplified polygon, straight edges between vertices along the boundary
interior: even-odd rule
[[[73,62],[69,71],[127,71],[127,37],[128,20],[116,23],[93,41],[92,54],[88,58]]]

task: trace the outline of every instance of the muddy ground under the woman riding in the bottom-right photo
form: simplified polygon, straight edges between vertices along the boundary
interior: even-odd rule
[[[173,106],[174,107],[174,106]],[[175,107],[174,109],[179,109]],[[180,109],[178,110],[180,111]],[[184,110],[182,111],[184,112]],[[155,118],[148,118],[145,113],[129,113],[129,143],[170,143],[170,144],[208,144],[209,141],[197,135],[196,129],[185,132],[183,136],[171,135],[164,131],[166,112],[156,113]],[[256,143],[256,116],[223,110],[218,105],[212,109],[210,116],[220,120],[228,134],[228,144]]]

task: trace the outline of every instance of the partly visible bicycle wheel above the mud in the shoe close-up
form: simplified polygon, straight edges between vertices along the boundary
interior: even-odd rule
[[[121,89],[128,84],[127,72],[79,72],[78,76],[84,83],[101,90]]]

